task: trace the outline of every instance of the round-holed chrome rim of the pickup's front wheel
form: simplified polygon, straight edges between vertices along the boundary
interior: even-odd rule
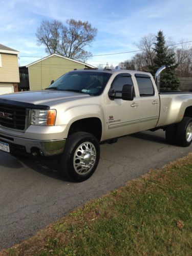
[[[96,161],[96,148],[91,142],[83,142],[77,147],[73,158],[75,172],[85,175],[91,172]]]

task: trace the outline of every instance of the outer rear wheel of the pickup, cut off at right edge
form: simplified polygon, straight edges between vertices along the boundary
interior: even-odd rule
[[[177,144],[179,146],[189,146],[192,141],[192,118],[183,117],[182,121],[177,125],[176,131]]]

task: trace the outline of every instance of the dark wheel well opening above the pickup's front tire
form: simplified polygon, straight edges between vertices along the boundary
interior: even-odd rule
[[[101,140],[102,124],[97,117],[84,118],[71,124],[68,135],[74,132],[87,132],[93,134],[98,141]]]

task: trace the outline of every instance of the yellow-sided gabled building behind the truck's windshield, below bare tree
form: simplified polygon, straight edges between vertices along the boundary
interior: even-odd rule
[[[69,71],[84,68],[95,67],[54,53],[30,63],[26,67],[19,67],[19,73],[20,77],[22,77],[21,72],[23,72],[24,77],[29,76],[29,89],[34,91],[47,88],[52,80],[56,80]],[[25,69],[28,69],[28,71]]]

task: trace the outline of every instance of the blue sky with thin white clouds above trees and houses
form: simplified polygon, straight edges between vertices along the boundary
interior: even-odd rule
[[[176,43],[192,40],[192,0],[0,0],[0,44],[20,52],[20,66],[46,56],[45,47],[37,46],[35,32],[42,19],[88,20],[98,34],[88,49],[93,55],[138,50],[135,42],[161,29]],[[192,46],[192,44],[191,44]],[[106,62],[118,65],[133,54],[92,57],[97,66]]]

